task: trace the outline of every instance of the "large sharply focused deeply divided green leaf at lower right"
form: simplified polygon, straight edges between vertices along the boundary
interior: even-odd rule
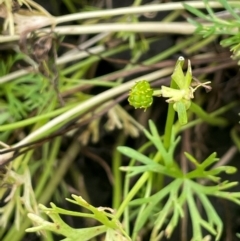
[[[141,165],[123,167],[122,170],[128,172],[130,177],[144,172],[158,173],[159,175],[170,176],[173,181],[163,187],[155,194],[139,198],[130,202],[131,206],[145,205],[141,212],[141,217],[135,223],[135,230],[139,231],[146,225],[150,217],[155,217],[155,222],[152,227],[151,240],[157,239],[158,235],[164,230],[167,237],[170,237],[174,228],[177,226],[180,218],[184,217],[183,206],[188,206],[192,229],[192,240],[202,240],[202,228],[205,228],[209,233],[216,236],[216,240],[220,239],[223,231],[223,224],[215,211],[214,206],[209,200],[209,196],[217,198],[225,198],[232,202],[240,204],[240,192],[231,193],[228,191],[231,187],[237,185],[237,182],[221,181],[218,176],[221,172],[232,174],[236,172],[236,168],[230,166],[220,166],[211,168],[212,164],[217,162],[216,153],[211,154],[204,161],[197,161],[189,153],[185,153],[189,161],[194,163],[195,169],[188,173],[183,173],[174,161],[174,150],[179,138],[172,139],[169,150],[166,150],[161,137],[157,133],[153,122],[149,122],[151,132],[144,130],[145,135],[151,141],[161,155],[158,162],[149,158],[142,153],[135,151],[129,147],[119,147],[118,150],[131,159],[138,161]],[[210,169],[209,169],[210,167]],[[201,179],[204,184],[200,184],[197,180]],[[206,185],[207,181],[215,182],[215,185]],[[168,198],[166,202],[163,200]],[[196,200],[199,200],[203,209],[207,213],[207,220],[204,220],[197,207]],[[160,203],[163,204],[159,205]],[[160,209],[156,209],[156,207]],[[166,228],[164,224],[166,219],[170,219]]]

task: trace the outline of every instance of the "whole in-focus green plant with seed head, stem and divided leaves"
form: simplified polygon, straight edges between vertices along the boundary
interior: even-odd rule
[[[169,105],[172,106],[172,108],[169,108],[168,122],[173,119],[174,104],[182,100],[190,101],[190,99],[193,98],[194,89],[190,86],[190,67],[188,68],[186,76],[184,76],[182,66],[183,59],[181,57],[172,75],[171,86],[176,86],[177,88],[183,87],[181,83],[185,83],[184,81],[186,81],[187,76],[190,81],[188,81],[188,85],[185,84],[183,87],[184,94],[182,94],[181,89],[170,89],[168,87],[162,87],[160,91],[161,95],[166,97],[164,91],[168,88],[167,97],[171,98],[170,101],[168,99],[168,102],[170,102]],[[178,83],[178,85],[176,85],[176,83]],[[199,84],[199,86],[202,86],[202,84]],[[131,104],[136,104],[135,107],[148,107],[149,103],[152,103],[152,100],[150,99],[149,103],[146,104],[146,99],[139,99],[138,96],[139,93],[146,93],[146,98],[149,98],[150,93],[154,95],[154,92],[149,88],[150,86],[147,82],[137,82],[134,90],[132,89],[130,91],[129,99]],[[155,91],[155,94],[156,93],[159,95],[159,91]],[[179,95],[179,93],[181,94]],[[191,98],[189,98],[189,94]],[[131,95],[136,95],[137,97],[131,98]],[[139,103],[141,100],[143,101],[142,104]],[[134,103],[135,101],[136,103]],[[188,107],[189,105],[191,105],[191,103],[187,104]],[[178,108],[176,108],[176,111],[181,122],[181,115],[186,116],[188,108],[180,108],[180,110]],[[169,118],[169,116],[171,116],[171,118]],[[181,122],[181,124],[185,124],[185,122]],[[166,123],[166,126],[169,126],[169,123]],[[37,227],[30,228],[27,231],[51,230],[64,235],[66,237],[64,240],[78,240],[80,236],[81,240],[90,240],[93,236],[107,232],[105,240],[115,240],[109,239],[108,232],[111,230],[111,232],[118,233],[116,240],[124,240],[121,235],[125,236],[127,240],[136,240],[138,233],[148,222],[151,227],[150,240],[160,240],[164,234],[168,238],[172,235],[179,220],[184,217],[184,205],[187,205],[192,222],[192,240],[203,240],[202,228],[215,236],[216,240],[219,240],[223,231],[223,223],[215,211],[213,204],[211,204],[209,196],[225,198],[240,204],[240,193],[229,191],[231,187],[237,185],[237,182],[221,181],[219,177],[219,174],[222,172],[226,172],[227,174],[236,172],[236,168],[231,166],[214,167],[213,164],[219,160],[216,158],[216,153],[212,153],[205,160],[199,161],[189,153],[184,152],[187,159],[195,166],[192,171],[184,173],[174,157],[174,151],[180,142],[180,137],[176,138],[177,132],[173,122],[171,122],[170,128],[166,129],[163,136],[159,135],[152,121],[149,122],[149,127],[150,132],[143,129],[149,142],[143,146],[142,150],[136,151],[129,147],[118,147],[118,151],[131,158],[131,162],[129,166],[121,167],[122,171],[127,172],[124,182],[124,189],[126,191],[124,201],[116,208],[116,213],[113,216],[112,214],[110,215],[104,212],[110,209],[101,209],[99,213],[99,209],[87,204],[82,198],[73,196],[75,201],[72,202],[90,209],[93,214],[62,210],[53,204],[51,209],[40,206],[54,223],[46,222],[36,214],[29,214],[29,217],[37,223]],[[150,152],[148,155],[144,154],[147,153],[148,148],[151,146],[155,147],[155,151]],[[136,165],[137,163],[140,163],[140,165]],[[129,179],[136,175],[140,175],[140,177],[135,185],[130,187]],[[156,188],[155,181],[161,180],[159,177],[164,176],[170,177],[172,181],[166,186],[163,186],[163,182],[160,181],[157,185],[157,191],[153,193],[153,190]],[[201,182],[199,183],[198,180],[201,180]],[[208,182],[212,182],[213,184],[207,185]],[[140,197],[138,197],[139,192],[142,193]],[[164,201],[166,198],[167,200]],[[206,212],[206,220],[199,211],[196,200],[199,201]],[[80,230],[75,230],[70,227],[67,228],[67,225],[60,219],[59,214],[94,218],[104,224],[104,226],[101,226],[101,228],[96,226],[90,229]],[[120,225],[119,220],[122,214],[124,214],[123,226]],[[152,217],[154,217],[154,221]],[[129,228],[131,222],[134,223],[132,232]],[[93,235],[92,230],[95,229],[97,232]]]

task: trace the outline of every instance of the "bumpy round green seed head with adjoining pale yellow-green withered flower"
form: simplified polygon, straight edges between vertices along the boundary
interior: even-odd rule
[[[206,86],[206,84],[211,82],[198,83],[197,86],[193,88],[191,86],[193,77],[190,61],[188,61],[188,70],[185,76],[182,70],[183,64],[184,58],[180,57],[172,75],[172,87],[162,86],[161,90],[153,91],[147,81],[137,82],[130,91],[129,103],[135,108],[147,109],[152,105],[153,96],[163,96],[168,98],[168,103],[173,103],[173,109],[178,113],[180,124],[186,124],[187,110],[191,106],[191,99],[194,98],[194,92],[200,86]]]

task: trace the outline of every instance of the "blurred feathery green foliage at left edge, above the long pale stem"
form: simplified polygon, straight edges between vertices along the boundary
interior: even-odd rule
[[[0,76],[8,74],[13,65],[23,59],[23,55],[9,55],[6,58],[6,60],[0,60]],[[2,84],[0,86],[0,111],[4,112],[5,116],[0,117],[0,123],[21,120],[36,108],[39,108],[40,111],[49,104],[53,97],[51,84],[40,74],[28,74],[12,82]]]

